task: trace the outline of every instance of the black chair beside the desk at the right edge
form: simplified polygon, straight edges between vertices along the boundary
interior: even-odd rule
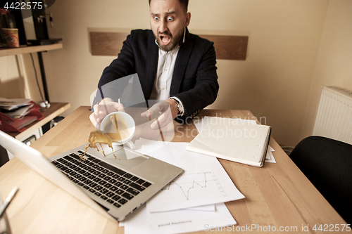
[[[322,136],[304,138],[289,155],[325,199],[352,223],[352,145]]]

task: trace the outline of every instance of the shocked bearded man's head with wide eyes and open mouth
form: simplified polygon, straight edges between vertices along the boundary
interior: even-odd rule
[[[179,0],[151,0],[151,30],[163,51],[175,48],[189,25],[191,14],[186,13]]]

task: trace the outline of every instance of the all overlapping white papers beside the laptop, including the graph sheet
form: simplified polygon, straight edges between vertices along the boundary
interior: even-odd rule
[[[244,198],[215,157],[185,150],[188,143],[139,139],[136,150],[184,169],[124,223],[125,233],[184,233],[237,224],[224,202]]]

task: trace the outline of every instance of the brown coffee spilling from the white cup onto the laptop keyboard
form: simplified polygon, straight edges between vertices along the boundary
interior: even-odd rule
[[[84,151],[84,155],[87,152],[87,149],[96,148],[99,151],[97,144],[101,146],[101,150],[103,150],[102,144],[108,145],[111,150],[113,150],[113,142],[119,142],[129,136],[127,126],[122,122],[118,122],[116,119],[116,115],[110,116],[110,123],[106,124],[104,131],[94,130],[91,131],[88,137],[89,145],[86,146],[86,150]],[[105,152],[103,150],[103,155],[106,157]],[[114,157],[116,155],[113,152]],[[82,160],[83,157],[80,156]]]

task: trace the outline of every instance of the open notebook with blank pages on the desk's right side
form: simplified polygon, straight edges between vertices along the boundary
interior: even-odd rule
[[[243,119],[213,117],[186,150],[263,167],[271,127]]]

